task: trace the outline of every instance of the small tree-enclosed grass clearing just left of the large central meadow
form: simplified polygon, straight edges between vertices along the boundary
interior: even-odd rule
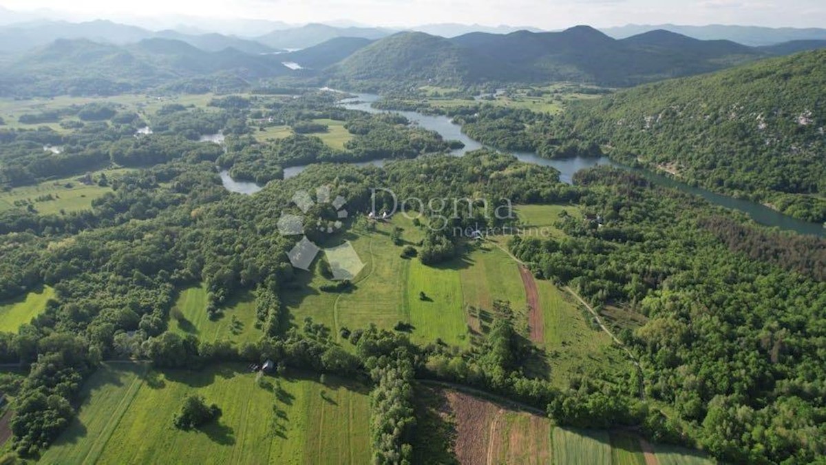
[[[193,334],[206,341],[229,339],[235,343],[252,342],[261,337],[260,330],[255,328],[255,300],[249,293],[230,300],[216,320],[207,317],[207,289],[203,285],[181,290],[175,307],[184,317],[178,321],[170,312],[169,329],[176,333]]]

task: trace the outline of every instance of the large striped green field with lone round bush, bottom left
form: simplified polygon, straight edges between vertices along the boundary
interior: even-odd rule
[[[136,364],[102,367],[86,383],[78,417],[42,463],[368,463],[369,400],[362,386],[329,376],[273,378],[259,386],[243,366],[154,372]],[[186,395],[202,395],[222,415],[181,431],[173,416]]]

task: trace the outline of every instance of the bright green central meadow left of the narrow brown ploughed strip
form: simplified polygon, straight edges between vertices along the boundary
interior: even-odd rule
[[[338,334],[342,327],[352,330],[374,323],[392,328],[401,321],[413,326],[414,341],[431,343],[441,338],[445,343],[466,346],[470,343],[469,325],[475,324],[469,305],[490,309],[493,300],[510,300],[515,309],[525,306],[516,264],[496,247],[485,246],[439,266],[424,266],[418,259],[399,256],[402,246],[390,239],[396,226],[404,229],[405,244],[422,237],[423,232],[401,215],[392,223],[377,223],[375,231],[353,228],[342,237],[352,243],[365,263],[354,279],[354,290],[325,293],[319,288],[329,281],[317,273],[300,273],[301,285],[287,291],[284,299],[293,324],[310,316]],[[425,293],[425,300],[420,299],[420,292]]]

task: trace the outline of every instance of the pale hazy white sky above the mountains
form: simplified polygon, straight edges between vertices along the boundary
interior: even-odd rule
[[[826,27],[826,0],[0,0],[12,10],[65,11],[69,5],[74,19],[178,14],[378,26],[462,22],[558,29],[670,22]]]

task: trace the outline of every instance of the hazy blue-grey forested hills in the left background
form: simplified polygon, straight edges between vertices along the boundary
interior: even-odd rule
[[[180,79],[197,79],[198,87],[214,89],[213,74],[221,83],[234,79],[273,77],[290,72],[278,55],[253,55],[227,48],[206,51],[183,41],[145,39],[129,46],[88,39],[60,39],[40,47],[0,69],[4,96],[97,94],[144,90]]]

